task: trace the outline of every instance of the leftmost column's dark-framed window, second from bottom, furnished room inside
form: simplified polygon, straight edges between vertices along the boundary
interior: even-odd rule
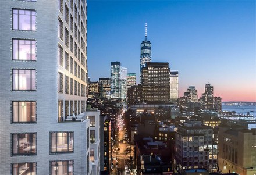
[[[12,155],[34,155],[36,137],[35,133],[12,134]]]

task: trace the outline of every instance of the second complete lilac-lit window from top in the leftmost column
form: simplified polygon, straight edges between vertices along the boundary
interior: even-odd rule
[[[12,60],[36,60],[35,40],[12,39]]]

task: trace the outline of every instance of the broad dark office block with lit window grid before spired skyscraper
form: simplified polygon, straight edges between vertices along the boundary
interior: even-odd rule
[[[143,102],[170,102],[169,63],[147,62],[141,74]]]

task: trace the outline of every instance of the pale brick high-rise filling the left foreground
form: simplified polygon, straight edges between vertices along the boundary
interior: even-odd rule
[[[0,174],[91,174],[87,2],[2,1],[0,9]]]

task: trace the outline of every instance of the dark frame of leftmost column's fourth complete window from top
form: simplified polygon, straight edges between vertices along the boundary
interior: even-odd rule
[[[28,122],[24,122],[24,121],[22,121],[22,122],[19,122],[19,121],[18,121],[18,122],[15,122],[15,121],[13,121],[13,119],[14,119],[14,105],[13,105],[13,103],[14,103],[14,102],[18,102],[18,107],[17,107],[17,111],[18,111],[18,112],[17,112],[18,120],[20,119],[20,116],[19,116],[19,115],[20,115],[20,108],[19,108],[20,106],[19,106],[19,103],[20,103],[20,102],[30,102],[30,114],[31,114],[31,115],[30,115],[30,119],[31,119],[30,121],[28,121]],[[35,121],[32,120],[32,109],[33,109],[32,103],[33,103],[33,102],[35,102]],[[37,101],[12,101],[11,103],[12,103],[12,104],[11,104],[11,105],[12,105],[12,123],[15,123],[15,124],[37,123]]]

